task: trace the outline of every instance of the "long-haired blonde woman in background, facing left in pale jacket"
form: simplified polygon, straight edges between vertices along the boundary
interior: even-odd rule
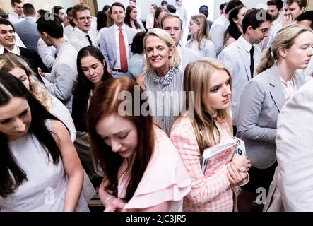
[[[191,39],[187,42],[186,47],[199,52],[201,58],[216,58],[215,45],[211,41],[206,16],[202,13],[191,16],[188,29]]]

